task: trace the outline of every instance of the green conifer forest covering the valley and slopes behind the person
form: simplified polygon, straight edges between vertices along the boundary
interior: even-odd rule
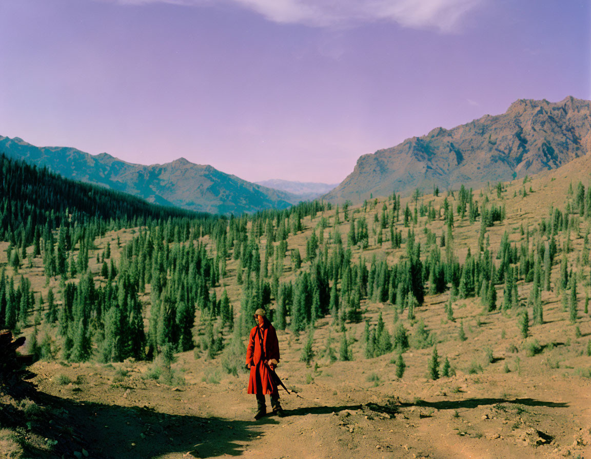
[[[498,339],[514,333],[528,355],[543,349],[548,304],[560,301],[565,326],[579,330],[582,314],[589,322],[588,180],[527,220],[515,213],[538,192],[528,178],[222,218],[0,159],[0,328],[24,333],[35,359],[155,362],[148,377],[180,384],[171,363],[192,351],[236,376],[263,307],[314,365],[307,382],[319,365],[388,356],[391,368],[367,379],[379,386],[409,372],[433,381],[481,373],[496,361],[491,347],[460,368],[441,343],[462,346],[484,322],[504,321]],[[478,302],[476,316],[467,301]],[[434,310],[441,325],[426,322]]]

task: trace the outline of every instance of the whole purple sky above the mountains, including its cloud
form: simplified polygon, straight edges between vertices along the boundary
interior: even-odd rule
[[[591,4],[1,0],[0,135],[337,183],[359,156],[591,99]]]

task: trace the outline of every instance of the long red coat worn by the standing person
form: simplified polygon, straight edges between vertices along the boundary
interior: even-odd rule
[[[252,327],[246,348],[246,365],[251,365],[251,375],[248,379],[248,394],[277,394],[277,385],[269,372],[268,362],[279,362],[279,342],[275,327],[265,322],[261,328],[263,349],[256,329]],[[263,352],[264,351],[264,352]]]

